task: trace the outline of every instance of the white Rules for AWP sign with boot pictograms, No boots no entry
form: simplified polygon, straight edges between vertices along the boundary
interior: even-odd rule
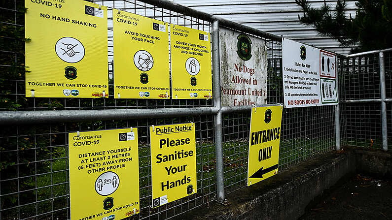
[[[283,38],[285,107],[337,105],[336,54]]]

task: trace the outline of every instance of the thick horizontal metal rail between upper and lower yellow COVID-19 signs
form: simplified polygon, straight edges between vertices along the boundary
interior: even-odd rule
[[[26,125],[55,122],[80,122],[95,120],[126,120],[166,118],[189,115],[214,115],[216,107],[159,108],[159,109],[108,109],[108,110],[59,110],[59,111],[4,111],[0,125]]]

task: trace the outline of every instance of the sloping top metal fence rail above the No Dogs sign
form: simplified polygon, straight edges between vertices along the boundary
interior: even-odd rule
[[[281,42],[282,41],[282,37],[272,34],[272,33],[268,33],[265,31],[260,31],[258,29],[255,28],[251,28],[242,24],[238,24],[232,21],[229,21],[227,19],[215,16],[213,14],[210,13],[206,13],[206,12],[202,12],[202,11],[198,11],[195,10],[193,8],[178,4],[176,2],[173,1],[168,1],[168,0],[143,0],[143,2],[147,3],[147,4],[152,4],[161,8],[165,8],[171,11],[175,11],[181,14],[185,14],[187,16],[192,16],[194,18],[198,18],[198,19],[202,19],[204,21],[209,21],[211,23],[213,23],[214,21],[218,21],[219,22],[219,26],[221,27],[227,27],[227,28],[231,28],[231,29],[236,29],[237,31],[243,31],[243,32],[247,32],[250,34],[254,34],[260,37],[265,37],[265,38],[269,38],[272,40],[276,40]]]

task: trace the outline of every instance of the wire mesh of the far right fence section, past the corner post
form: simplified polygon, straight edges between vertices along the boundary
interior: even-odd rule
[[[344,59],[343,65],[344,71],[340,77],[339,87],[341,101],[381,97],[378,53]],[[387,53],[385,59],[386,76],[390,71],[390,65],[390,55]],[[381,103],[349,102],[341,104],[341,133],[344,134],[342,135],[342,143],[345,145],[381,148]]]

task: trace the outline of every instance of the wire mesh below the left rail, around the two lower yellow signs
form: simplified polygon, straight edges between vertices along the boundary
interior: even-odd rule
[[[151,208],[150,125],[195,123],[197,193]],[[130,219],[168,219],[215,197],[213,116],[11,126],[0,135],[1,219],[70,219],[68,132],[137,126],[141,212]]]

